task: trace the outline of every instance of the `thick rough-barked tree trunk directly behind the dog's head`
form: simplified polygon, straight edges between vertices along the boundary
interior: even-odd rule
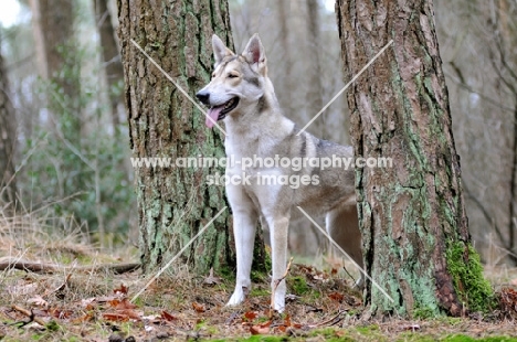
[[[192,97],[212,72],[211,36],[233,49],[226,0],[118,1],[130,147],[135,157],[223,157],[223,137],[135,47],[139,44]],[[220,168],[135,168],[144,271],[170,260],[222,207],[223,186],[208,186]],[[234,265],[228,209],[178,264],[197,274]]]

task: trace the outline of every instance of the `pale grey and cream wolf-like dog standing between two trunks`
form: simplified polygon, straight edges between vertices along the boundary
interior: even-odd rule
[[[209,107],[205,119],[209,128],[224,120],[226,158],[234,161],[225,170],[226,180],[231,180],[225,182],[225,189],[233,212],[238,264],[235,290],[228,304],[241,303],[251,289],[253,244],[260,220],[271,232],[272,306],[283,312],[288,225],[291,218],[302,215],[296,206],[312,216],[325,216],[328,234],[362,268],[352,168],[299,163],[323,158],[352,159],[354,150],[300,132],[282,114],[256,33],[240,55],[217,35],[212,36],[212,49],[215,60],[212,79],[196,96]],[[296,167],[284,167],[287,163],[266,167],[266,160],[270,164],[272,160],[297,162]]]

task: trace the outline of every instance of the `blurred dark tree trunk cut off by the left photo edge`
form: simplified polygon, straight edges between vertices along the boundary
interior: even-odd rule
[[[15,125],[14,109],[9,98],[9,82],[0,55],[0,210],[4,203],[14,203]]]

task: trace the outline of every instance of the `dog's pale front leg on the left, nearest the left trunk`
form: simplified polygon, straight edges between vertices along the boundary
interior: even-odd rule
[[[244,301],[251,290],[250,274],[258,216],[252,200],[244,193],[242,188],[228,185],[226,193],[233,211],[233,236],[235,238],[238,261],[235,290],[228,304],[236,306]]]

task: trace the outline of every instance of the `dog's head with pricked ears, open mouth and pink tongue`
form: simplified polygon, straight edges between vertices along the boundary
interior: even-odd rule
[[[215,57],[212,79],[196,94],[210,108],[205,121],[209,128],[226,115],[238,115],[240,110],[256,105],[265,89],[272,87],[258,34],[250,39],[240,55],[228,49],[215,34],[212,36],[212,49]]]

